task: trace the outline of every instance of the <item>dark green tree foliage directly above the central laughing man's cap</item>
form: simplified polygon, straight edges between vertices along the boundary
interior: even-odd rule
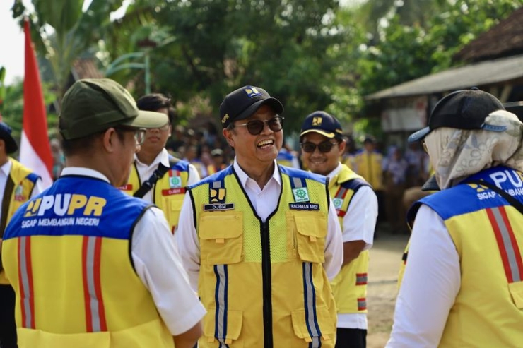
[[[164,32],[168,44],[151,51],[153,90],[185,103],[206,100],[216,116],[225,94],[258,85],[282,100],[286,129],[299,129],[306,114],[331,103],[327,87],[338,62],[329,49],[344,40],[334,25],[337,6],[334,0],[136,1],[115,28],[114,43],[122,37],[117,30],[130,37],[128,20],[151,28],[151,37]],[[107,45],[114,58],[122,54],[116,46]]]

